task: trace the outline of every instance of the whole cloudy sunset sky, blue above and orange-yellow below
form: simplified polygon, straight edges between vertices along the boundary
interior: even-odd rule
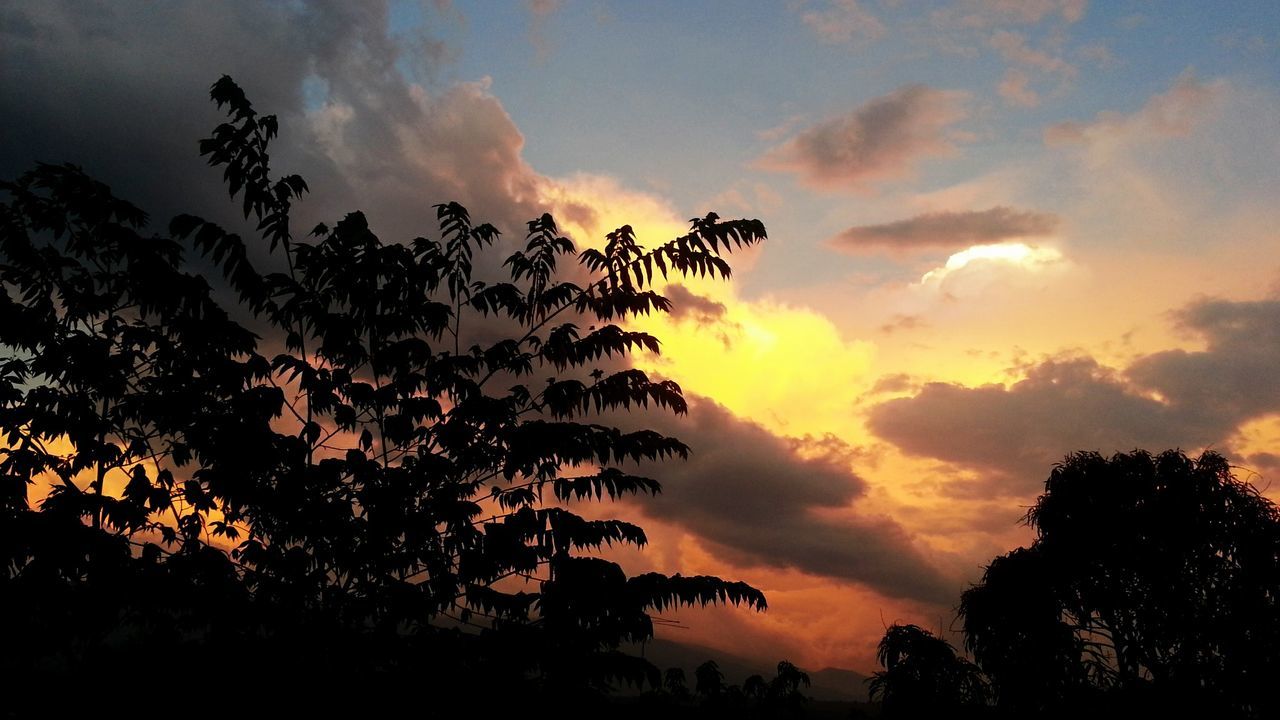
[[[604,509],[649,532],[618,557],[769,600],[663,637],[869,671],[887,624],[955,626],[1071,451],[1211,448],[1280,496],[1280,4],[6,3],[0,177],[230,220],[196,152],[224,73],[280,117],[297,227],[764,222],[635,323],[691,410],[630,420],[694,455]]]

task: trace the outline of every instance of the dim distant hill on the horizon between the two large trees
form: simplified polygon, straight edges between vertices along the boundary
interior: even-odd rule
[[[682,669],[685,676],[689,679],[690,689],[694,685],[694,669],[708,660],[714,660],[719,665],[726,683],[736,685],[741,685],[742,680],[751,675],[763,675],[765,679],[773,678],[777,673],[777,660],[788,660],[778,657],[773,662],[760,662],[699,644],[667,639],[649,641],[643,648],[634,646],[630,648],[630,652],[643,655],[649,662],[653,662],[662,670],[667,667]],[[809,673],[809,678],[813,680],[813,687],[805,691],[805,694],[814,700],[867,702],[867,675],[861,673],[840,667],[824,667],[822,670],[801,667],[801,670]]]

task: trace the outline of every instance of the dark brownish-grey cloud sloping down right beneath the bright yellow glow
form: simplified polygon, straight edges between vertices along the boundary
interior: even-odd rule
[[[662,495],[644,502],[649,515],[710,541],[739,562],[864,583],[893,597],[955,600],[955,583],[892,519],[820,515],[855,506],[865,491],[849,469],[846,446],[817,441],[805,446],[812,456],[800,457],[792,442],[705,398],[695,398],[684,418],[650,414],[645,424],[692,448],[687,461],[646,469],[663,482]]]

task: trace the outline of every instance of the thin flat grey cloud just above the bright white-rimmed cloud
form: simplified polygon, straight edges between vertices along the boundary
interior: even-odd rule
[[[877,225],[858,225],[833,237],[837,250],[865,249],[947,249],[963,250],[1014,238],[1043,237],[1059,225],[1059,217],[1034,210],[996,206],[987,210],[941,210],[905,220]]]

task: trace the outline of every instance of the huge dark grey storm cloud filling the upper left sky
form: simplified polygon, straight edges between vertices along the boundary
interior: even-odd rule
[[[227,73],[280,117],[276,172],[314,195],[297,227],[365,210],[387,240],[434,234],[431,205],[518,231],[543,182],[480,83],[410,83],[385,3],[32,3],[0,22],[0,177],[74,161],[165,223],[233,215],[197,140],[221,122],[207,88]],[[306,92],[305,92],[306,88]],[[518,238],[517,238],[518,240]]]

